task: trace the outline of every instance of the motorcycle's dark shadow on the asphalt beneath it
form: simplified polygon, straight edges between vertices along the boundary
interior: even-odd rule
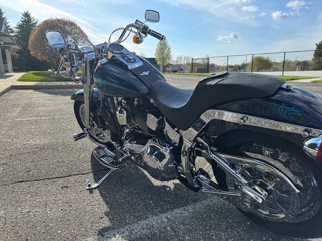
[[[93,155],[91,162],[97,182],[105,175],[106,172],[101,171],[105,168]],[[110,225],[98,231],[97,238],[150,241],[187,240],[188,236],[190,240],[308,240],[274,234],[249,220],[232,205],[212,195],[194,193],[177,182],[172,182],[172,187],[169,182],[165,182],[165,185],[159,181],[156,183],[154,185],[154,181],[134,164],[114,171],[96,190],[100,192],[108,210],[105,212],[105,222],[110,222]],[[177,215],[176,220],[171,218],[176,209],[207,199],[213,199],[210,208],[208,204],[205,209],[199,207],[199,211],[190,210],[191,215],[187,216],[183,212],[182,216],[180,213]],[[167,220],[164,221],[166,224],[158,226],[158,220],[153,224],[153,217],[158,218],[158,215],[164,213],[167,215]],[[146,220],[152,220],[152,224],[140,225],[147,224]]]

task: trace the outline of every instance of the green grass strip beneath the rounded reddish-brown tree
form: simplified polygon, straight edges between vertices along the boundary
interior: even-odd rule
[[[18,81],[72,81],[61,76],[54,76],[53,73],[48,71],[29,71],[21,76]]]

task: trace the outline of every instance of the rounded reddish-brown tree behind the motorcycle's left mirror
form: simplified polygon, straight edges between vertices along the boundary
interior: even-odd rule
[[[46,60],[52,67],[59,65],[58,50],[53,49],[47,43],[45,32],[48,30],[58,30],[65,38],[70,35],[78,34],[87,37],[85,32],[75,22],[63,18],[51,18],[43,21],[31,32],[29,39],[30,53],[39,60]],[[74,39],[80,45],[87,44],[86,41]]]

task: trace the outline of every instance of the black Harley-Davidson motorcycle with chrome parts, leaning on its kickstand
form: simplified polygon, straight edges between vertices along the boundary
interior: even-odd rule
[[[45,33],[59,48],[56,74],[84,86],[71,96],[83,130],[73,140],[96,143],[95,158],[109,168],[98,183],[87,180],[87,189],[131,161],[155,179],[221,196],[275,232],[321,236],[322,97],[241,72],[210,74],[194,90],[175,87],[120,44],[130,33],[136,44],[148,35],[163,40],[145,24],[159,14],[147,10],[145,20],[98,46]]]

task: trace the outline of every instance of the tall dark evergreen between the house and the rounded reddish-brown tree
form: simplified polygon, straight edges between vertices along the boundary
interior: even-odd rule
[[[32,56],[28,48],[30,34],[36,25],[37,20],[28,11],[22,13],[21,20],[16,25],[14,38],[22,48],[17,51],[19,58],[15,59],[15,64],[20,70],[43,70],[47,67],[46,63]]]

